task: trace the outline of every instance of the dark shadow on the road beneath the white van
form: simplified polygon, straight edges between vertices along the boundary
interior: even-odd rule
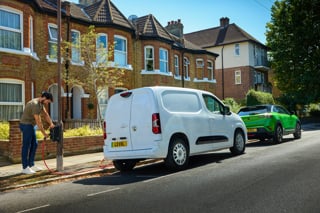
[[[222,163],[223,160],[234,157],[231,153],[208,153],[190,157],[188,169],[201,167],[211,163]],[[188,170],[187,169],[187,170]],[[163,161],[142,165],[130,172],[115,172],[104,174],[100,177],[87,178],[74,181],[75,184],[83,185],[124,185],[159,178],[177,172],[169,170]]]

